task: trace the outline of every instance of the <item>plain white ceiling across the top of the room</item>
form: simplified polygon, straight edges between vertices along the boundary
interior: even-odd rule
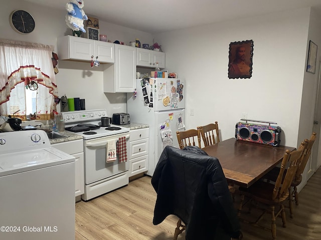
[[[68,2],[25,1],[64,11]],[[309,6],[321,12],[321,0],[84,0],[83,10],[99,20],[154,34]]]

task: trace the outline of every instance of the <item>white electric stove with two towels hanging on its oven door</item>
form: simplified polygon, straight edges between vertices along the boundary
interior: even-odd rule
[[[81,198],[85,201],[128,184],[129,128],[112,124],[101,126],[101,117],[106,116],[106,109],[62,112],[65,129],[84,139],[85,193]],[[110,146],[122,149],[116,151],[113,160],[108,159]]]

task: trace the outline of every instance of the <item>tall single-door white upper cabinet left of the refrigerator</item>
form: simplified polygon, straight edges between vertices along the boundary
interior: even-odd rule
[[[115,44],[115,63],[104,70],[104,92],[133,92],[136,88],[136,49]]]

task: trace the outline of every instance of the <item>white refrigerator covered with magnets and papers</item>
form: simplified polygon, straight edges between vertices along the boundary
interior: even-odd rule
[[[139,78],[136,91],[127,93],[130,121],[149,125],[147,175],[152,175],[165,146],[179,148],[176,131],[185,130],[185,80]]]

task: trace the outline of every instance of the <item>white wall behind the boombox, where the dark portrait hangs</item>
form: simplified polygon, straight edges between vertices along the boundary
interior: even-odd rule
[[[224,140],[247,112],[249,119],[276,121],[281,144],[297,146],[309,13],[304,8],[157,34],[169,71],[187,82],[187,128],[217,120]],[[229,79],[230,42],[251,39],[252,77]]]

